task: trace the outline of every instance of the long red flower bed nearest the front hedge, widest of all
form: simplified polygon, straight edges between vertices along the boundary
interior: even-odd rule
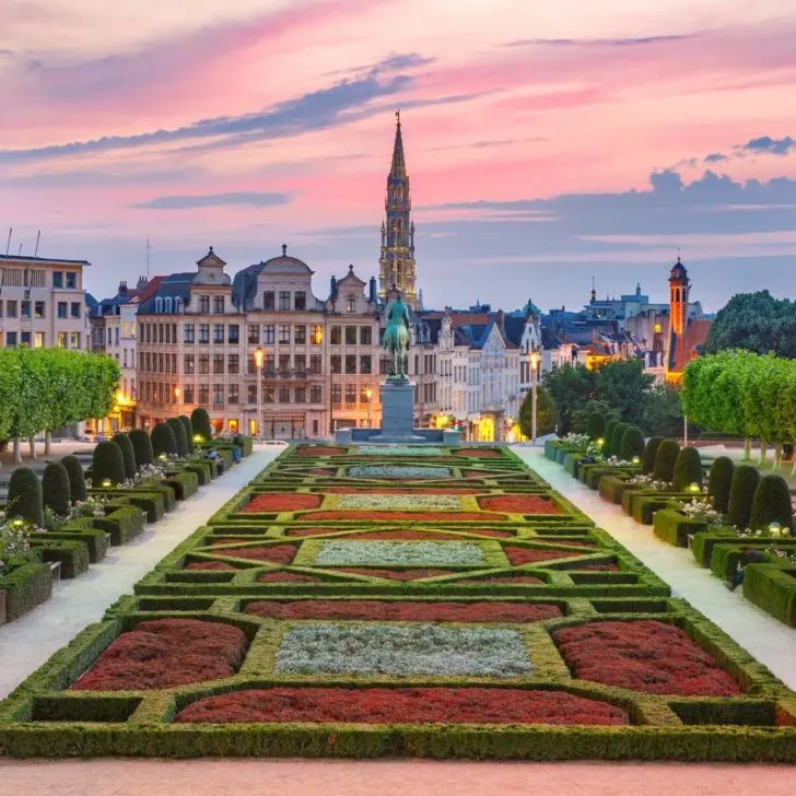
[[[565,691],[491,688],[270,688],[208,696],[179,724],[630,724],[621,709]]]

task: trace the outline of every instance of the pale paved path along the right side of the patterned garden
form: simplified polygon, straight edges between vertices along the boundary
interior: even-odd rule
[[[710,570],[696,564],[690,550],[671,547],[658,539],[652,526],[639,525],[620,506],[604,501],[596,491],[572,478],[561,465],[546,458],[541,448],[515,447],[514,452],[553,489],[592,517],[598,527],[607,530],[666,581],[675,597],[687,599],[761,664],[796,689],[796,630],[746,600],[740,589],[728,592]]]

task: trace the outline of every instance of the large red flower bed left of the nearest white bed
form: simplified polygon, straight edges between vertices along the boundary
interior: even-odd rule
[[[246,652],[238,628],[198,619],[155,619],[122,633],[73,686],[78,691],[173,688],[234,675]]]

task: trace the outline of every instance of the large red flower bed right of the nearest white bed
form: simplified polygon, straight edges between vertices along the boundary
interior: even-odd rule
[[[681,696],[740,693],[713,657],[672,624],[588,622],[552,635],[566,665],[582,680]]]

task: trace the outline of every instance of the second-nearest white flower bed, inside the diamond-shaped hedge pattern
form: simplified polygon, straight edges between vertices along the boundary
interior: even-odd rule
[[[467,541],[327,541],[315,557],[318,566],[447,566],[483,561],[478,542]]]

